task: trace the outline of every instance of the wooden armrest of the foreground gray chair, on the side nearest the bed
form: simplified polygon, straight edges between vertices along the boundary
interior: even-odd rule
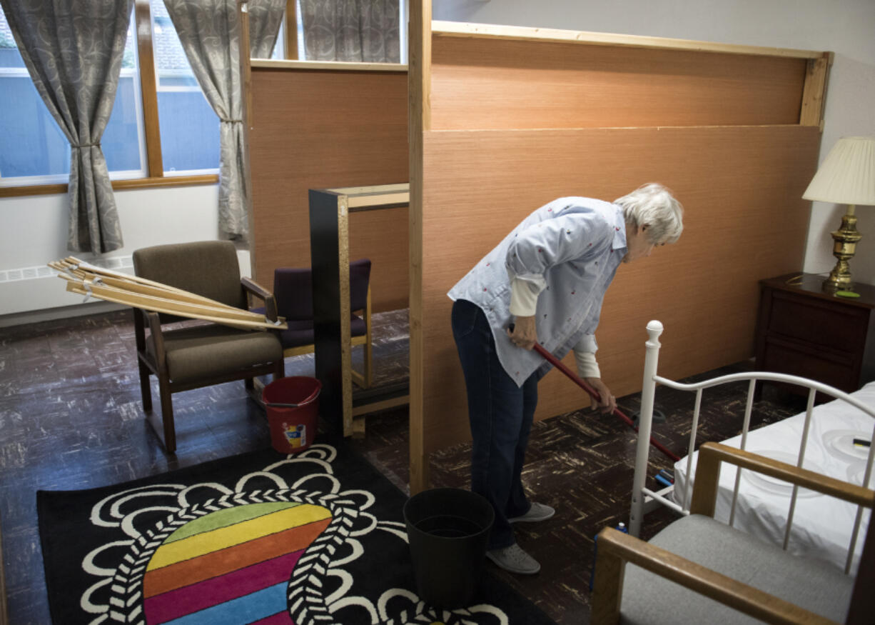
[[[696,480],[693,484],[693,499],[690,502],[690,514],[714,516],[721,462],[728,462],[741,468],[788,481],[803,488],[815,490],[818,493],[823,493],[823,495],[837,497],[858,506],[872,508],[872,504],[875,502],[875,491],[869,488],[856,486],[846,481],[837,480],[836,478],[815,473],[808,469],[794,467],[785,462],[772,460],[771,458],[736,449],[735,447],[721,445],[720,443],[704,443],[703,446],[699,447],[699,459],[696,467]]]

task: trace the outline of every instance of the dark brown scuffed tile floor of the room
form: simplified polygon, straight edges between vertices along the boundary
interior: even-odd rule
[[[406,373],[405,331],[402,312],[387,313],[376,328],[378,383]],[[179,449],[167,455],[144,419],[133,345],[127,311],[0,328],[0,527],[15,625],[50,622],[38,489],[104,486],[269,446],[262,410],[242,383],[228,383],[174,396]],[[311,368],[311,356],[287,361],[287,375],[312,375]],[[729,415],[738,414],[739,393],[739,387],[715,391],[703,440],[736,433],[737,420],[731,423]],[[638,401],[624,397],[620,406],[631,415]],[[655,427],[655,436],[683,455],[692,398],[661,390],[657,402],[669,419]],[[794,401],[771,393],[757,404],[754,421],[797,411]],[[406,488],[406,409],[369,417],[367,437],[354,444]],[[469,452],[459,445],[434,454],[432,485],[465,488]],[[658,453],[652,458],[654,471],[670,464]],[[520,527],[518,540],[542,572],[517,577],[493,565],[490,570],[557,622],[589,622],[592,537],[627,519],[633,463],[634,432],[615,418],[577,411],[535,424],[524,479],[532,498],[556,507],[556,516]],[[669,520],[667,511],[648,516],[645,536]]]

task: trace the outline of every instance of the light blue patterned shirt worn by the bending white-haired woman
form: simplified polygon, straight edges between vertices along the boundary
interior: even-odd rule
[[[616,204],[591,198],[553,200],[529,214],[447,293],[486,314],[507,375],[518,386],[535,370],[549,370],[541,355],[516,347],[505,332],[512,322],[511,282],[537,294],[538,341],[562,358],[571,348],[595,353],[595,330],[605,291],[626,256],[626,222]]]

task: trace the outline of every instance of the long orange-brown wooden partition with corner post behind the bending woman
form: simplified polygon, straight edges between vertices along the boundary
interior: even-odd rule
[[[598,362],[615,395],[641,390],[651,319],[664,376],[753,354],[758,280],[802,266],[829,60],[432,23],[411,4],[411,492],[430,452],[470,438],[446,292],[549,200],[658,181],[685,207],[681,240],[621,266],[607,292]],[[556,372],[539,394],[536,418],[589,403]]]

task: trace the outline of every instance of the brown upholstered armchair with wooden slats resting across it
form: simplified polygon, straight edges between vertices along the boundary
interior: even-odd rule
[[[273,295],[248,277],[241,278],[234,243],[205,241],[158,245],[134,252],[134,271],[139,277],[191,291],[226,305],[248,309],[248,294],[264,301],[266,316],[276,320]],[[192,322],[163,329],[179,317],[134,309],[137,362],[143,408],[164,443],[176,451],[172,393],[245,380],[284,375],[283,347],[275,332],[239,330],[209,322]],[[146,334],[146,328],[149,334]],[[152,412],[149,376],[158,377],[161,419]]]

